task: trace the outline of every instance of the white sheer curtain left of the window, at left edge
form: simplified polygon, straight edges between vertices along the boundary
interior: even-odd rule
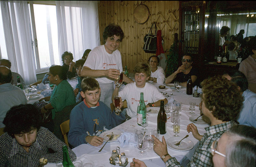
[[[36,65],[31,45],[31,26],[27,1],[0,1],[4,36],[11,70],[25,83],[36,82]]]

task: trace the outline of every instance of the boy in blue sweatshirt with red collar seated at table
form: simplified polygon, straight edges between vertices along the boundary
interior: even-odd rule
[[[70,113],[68,142],[73,147],[84,143],[100,146],[103,138],[99,135],[121,124],[125,117],[111,112],[107,105],[99,101],[100,86],[96,79],[84,78],[81,88],[80,94],[84,101],[76,105]]]

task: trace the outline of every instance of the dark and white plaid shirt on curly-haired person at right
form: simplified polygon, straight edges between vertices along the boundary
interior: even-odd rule
[[[213,166],[212,154],[211,154],[211,145],[215,140],[219,140],[220,136],[226,132],[230,127],[236,125],[235,121],[229,121],[226,123],[213,125],[211,127],[206,127],[203,138],[201,139],[196,151],[193,154],[193,157],[187,167],[211,167]],[[170,158],[165,162],[167,167],[181,167],[180,163],[176,158]]]

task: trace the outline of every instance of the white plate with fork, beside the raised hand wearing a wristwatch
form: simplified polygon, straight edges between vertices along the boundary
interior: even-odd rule
[[[177,151],[188,151],[194,147],[194,143],[189,139],[183,139],[181,142],[180,140],[183,137],[171,137],[166,141],[166,144],[169,148],[177,150]],[[174,144],[180,142],[179,146],[176,146]]]

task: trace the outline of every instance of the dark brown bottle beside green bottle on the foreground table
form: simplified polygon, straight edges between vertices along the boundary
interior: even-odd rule
[[[167,119],[166,119],[166,113],[164,111],[164,100],[161,100],[160,110],[157,115],[157,129],[160,130],[160,134],[166,133],[166,126],[167,126]]]

